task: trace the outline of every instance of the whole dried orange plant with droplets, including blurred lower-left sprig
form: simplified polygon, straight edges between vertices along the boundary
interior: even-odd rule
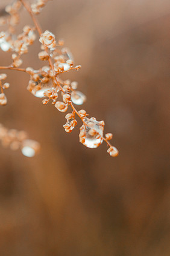
[[[7,25],[8,29],[0,32],[0,48],[2,51],[11,52],[11,64],[8,67],[1,66],[0,69],[27,73],[30,76],[27,90],[33,96],[43,98],[44,105],[51,102],[61,113],[66,113],[69,106],[72,108],[71,113],[67,113],[65,116],[66,123],[63,128],[66,133],[71,133],[75,128],[78,117],[83,122],[80,127],[79,139],[84,146],[97,148],[104,141],[109,146],[107,153],[112,157],[118,156],[118,149],[110,144],[112,134],[107,133],[104,136],[104,121],[97,121],[95,117],[89,117],[85,110],[75,108],[75,105],[82,105],[86,101],[86,96],[77,90],[78,83],[76,81],[63,80],[61,75],[72,70],[79,70],[81,65],[74,65],[74,57],[71,51],[63,46],[62,40],[57,40],[51,31],[42,31],[40,28],[35,15],[42,11],[46,2],[48,1],[37,0],[30,5],[26,0],[16,0],[13,4],[7,5],[5,8],[7,15],[0,19],[0,24]],[[25,25],[22,32],[16,34],[15,27],[20,22],[19,11],[22,5],[31,16],[34,26]],[[38,70],[33,67],[21,68],[22,54],[28,53],[29,47],[34,43],[36,37],[40,42],[38,57],[45,64]],[[6,78],[6,74],[0,74],[0,105],[7,104],[4,90],[9,87],[9,84],[4,83]],[[58,100],[60,94],[62,101]],[[15,130],[7,130],[4,126],[0,126],[2,145],[10,145],[11,149],[20,148],[24,156],[33,157],[39,150],[39,143],[23,137],[24,132],[22,132],[22,139],[19,134]]]

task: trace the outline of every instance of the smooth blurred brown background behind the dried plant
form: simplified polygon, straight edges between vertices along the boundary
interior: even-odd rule
[[[78,126],[66,134],[65,114],[26,90],[27,74],[6,72],[1,123],[27,131],[42,149],[27,159],[0,147],[1,255],[170,255],[169,7],[169,0],[54,0],[43,9],[43,30],[65,38],[82,65],[65,79],[78,81],[83,108],[105,120],[120,154],[110,157],[104,143],[81,145]],[[21,16],[17,33],[32,24],[24,9]],[[23,67],[41,67],[39,47],[30,47]],[[0,58],[11,63],[10,53]]]

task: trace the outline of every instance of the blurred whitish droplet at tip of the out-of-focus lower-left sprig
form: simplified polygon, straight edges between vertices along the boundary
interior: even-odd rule
[[[22,154],[27,157],[33,157],[39,151],[40,145],[35,140],[24,140],[22,142]]]

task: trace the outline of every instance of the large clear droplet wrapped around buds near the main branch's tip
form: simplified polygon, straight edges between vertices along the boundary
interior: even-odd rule
[[[80,142],[87,148],[97,148],[102,143],[104,125],[101,125],[94,117],[85,118],[87,125],[82,125],[80,130]]]

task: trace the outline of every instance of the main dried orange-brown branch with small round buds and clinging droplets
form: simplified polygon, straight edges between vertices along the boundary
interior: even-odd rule
[[[71,52],[67,48],[60,49],[60,47],[63,46],[63,41],[58,41],[57,44],[54,34],[48,30],[45,32],[42,31],[42,28],[40,27],[35,15],[40,13],[46,2],[47,1],[45,0],[38,0],[30,6],[25,0],[17,0],[15,6],[13,5],[12,7],[5,9],[11,15],[13,15],[14,13],[17,13],[17,10],[19,10],[19,3],[21,3],[31,16],[34,27],[31,28],[30,26],[25,26],[23,29],[24,32],[19,34],[19,36],[17,36],[17,40],[11,43],[12,50],[17,54],[14,53],[12,55],[13,63],[9,67],[0,67],[0,69],[18,70],[30,74],[28,90],[36,97],[46,97],[46,99],[43,99],[43,104],[46,104],[49,102],[49,100],[52,100],[52,104],[55,104],[55,108],[57,108],[57,110],[60,112],[66,112],[68,110],[68,106],[71,106],[72,113],[66,114],[67,122],[65,125],[63,125],[67,133],[71,133],[71,131],[77,125],[77,120],[75,119],[76,114],[83,122],[83,125],[80,128],[80,142],[89,148],[96,148],[101,145],[102,141],[104,140],[109,146],[107,152],[110,154],[110,156],[117,156],[118,149],[112,146],[109,142],[109,140],[112,139],[112,134],[108,133],[105,134],[105,137],[103,136],[104,121],[98,122],[94,117],[89,119],[87,118],[88,114],[85,110],[77,111],[75,108],[74,103],[81,105],[86,100],[86,96],[84,96],[84,94],[80,91],[76,90],[77,82],[71,82],[70,80],[63,81],[58,77],[62,73],[71,70],[79,70],[81,66],[77,65],[74,67]],[[12,25],[14,27],[16,24]],[[33,68],[29,67],[26,69],[19,68],[19,66],[22,64],[20,56],[28,52],[28,45],[33,44],[35,40],[34,30],[37,30],[39,34],[39,41],[42,44],[42,51],[39,53],[39,59],[42,61],[48,61],[48,66],[44,66],[39,70],[34,70]],[[13,33],[13,30],[11,33]],[[10,42],[4,32],[0,33],[0,39],[1,38],[5,42]],[[0,75],[0,80],[5,78],[2,76],[1,79]],[[3,90],[3,85],[1,85],[1,88]],[[58,93],[61,93],[63,102],[57,101]],[[3,91],[1,94],[4,95]]]

